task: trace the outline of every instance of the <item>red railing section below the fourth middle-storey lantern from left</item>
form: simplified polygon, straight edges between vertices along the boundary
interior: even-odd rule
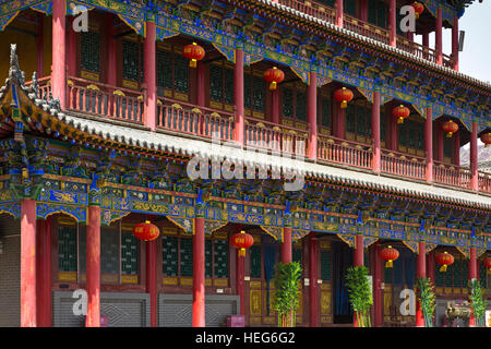
[[[381,172],[412,179],[426,179],[427,161],[422,157],[382,149]]]

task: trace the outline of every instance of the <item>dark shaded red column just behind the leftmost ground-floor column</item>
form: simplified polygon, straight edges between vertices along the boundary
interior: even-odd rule
[[[37,326],[51,327],[51,218],[37,221]]]

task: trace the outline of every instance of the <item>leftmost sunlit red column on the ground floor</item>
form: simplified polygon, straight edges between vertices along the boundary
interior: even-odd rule
[[[21,201],[21,327],[36,327],[36,201]]]

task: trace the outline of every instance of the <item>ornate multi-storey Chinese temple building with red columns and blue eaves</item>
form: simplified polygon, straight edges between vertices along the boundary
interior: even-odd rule
[[[458,71],[471,2],[0,1],[0,326],[277,326],[292,261],[297,326],[356,326],[361,265],[373,326],[423,325],[400,297],[419,277],[452,326],[468,280],[491,298],[491,85]]]

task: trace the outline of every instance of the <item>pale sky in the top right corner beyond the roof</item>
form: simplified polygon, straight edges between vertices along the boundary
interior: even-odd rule
[[[459,71],[491,83],[491,1],[479,3],[476,0],[466,8],[458,29],[466,32],[464,51],[459,52]],[[421,43],[421,36],[416,40]],[[434,47],[434,33],[430,35],[430,46]],[[452,29],[443,31],[443,52],[452,52]]]

